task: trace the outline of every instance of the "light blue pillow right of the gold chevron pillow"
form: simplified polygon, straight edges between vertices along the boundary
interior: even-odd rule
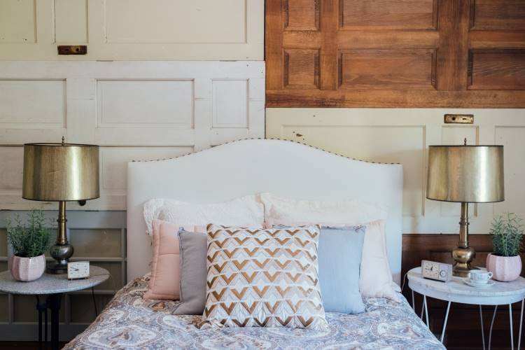
[[[274,228],[286,228],[286,226],[275,225]],[[321,228],[318,272],[321,298],[326,312],[359,314],[365,311],[365,304],[359,291],[365,229],[365,226]]]

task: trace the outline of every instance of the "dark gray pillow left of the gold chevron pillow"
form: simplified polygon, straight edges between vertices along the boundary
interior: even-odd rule
[[[207,237],[201,232],[179,232],[181,304],[176,315],[202,315],[206,303]]]

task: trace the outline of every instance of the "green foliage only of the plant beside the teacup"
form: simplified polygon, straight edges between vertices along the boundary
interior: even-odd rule
[[[516,256],[521,250],[521,239],[524,235],[521,218],[514,213],[494,218],[490,234],[495,255]]]

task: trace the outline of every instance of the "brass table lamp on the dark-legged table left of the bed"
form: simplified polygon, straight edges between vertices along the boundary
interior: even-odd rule
[[[58,202],[57,242],[50,255],[57,260],[52,274],[67,273],[73,246],[66,235],[66,201],[99,197],[99,146],[80,144],[25,144],[22,198]]]

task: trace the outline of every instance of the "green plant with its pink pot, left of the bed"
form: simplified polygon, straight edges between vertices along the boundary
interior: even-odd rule
[[[18,281],[34,281],[45,270],[45,251],[50,245],[51,229],[45,226],[43,211],[33,209],[27,215],[27,224],[16,216],[15,225],[7,220],[7,239],[13,249],[10,272]]]

